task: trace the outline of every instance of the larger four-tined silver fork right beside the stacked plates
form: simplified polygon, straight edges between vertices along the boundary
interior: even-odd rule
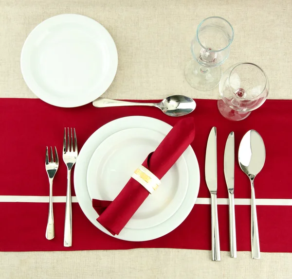
[[[64,227],[64,246],[65,247],[72,246],[71,170],[78,156],[75,128],[73,129],[73,131],[74,131],[74,144],[73,144],[72,128],[71,128],[71,139],[69,136],[69,128],[68,128],[68,140],[66,140],[66,128],[65,128],[64,141],[63,141],[63,161],[67,166],[67,196],[66,196],[65,227]]]

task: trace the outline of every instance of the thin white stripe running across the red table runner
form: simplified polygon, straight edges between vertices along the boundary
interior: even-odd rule
[[[0,202],[21,202],[21,203],[48,203],[49,196],[0,196]],[[54,196],[54,203],[65,203],[66,196]],[[76,196],[72,202],[77,203]],[[210,198],[197,198],[196,204],[209,205]],[[218,198],[218,205],[228,205],[227,198]],[[251,199],[235,199],[236,205],[251,205]],[[256,199],[258,206],[292,206],[292,199]]]

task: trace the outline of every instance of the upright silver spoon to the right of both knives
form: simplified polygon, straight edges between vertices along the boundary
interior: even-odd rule
[[[255,131],[248,131],[242,138],[239,151],[238,161],[241,170],[248,175],[252,186],[252,257],[260,259],[259,238],[256,217],[256,196],[254,188],[254,180],[264,166],[266,159],[265,144],[261,136]]]

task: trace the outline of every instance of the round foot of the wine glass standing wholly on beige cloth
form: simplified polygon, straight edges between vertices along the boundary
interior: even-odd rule
[[[191,87],[207,91],[219,84],[221,67],[205,68],[192,59],[185,67],[185,78]]]

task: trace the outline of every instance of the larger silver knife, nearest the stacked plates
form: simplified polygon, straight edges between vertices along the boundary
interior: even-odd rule
[[[213,127],[208,138],[205,179],[211,193],[212,261],[220,261],[220,243],[217,212],[217,132]]]

